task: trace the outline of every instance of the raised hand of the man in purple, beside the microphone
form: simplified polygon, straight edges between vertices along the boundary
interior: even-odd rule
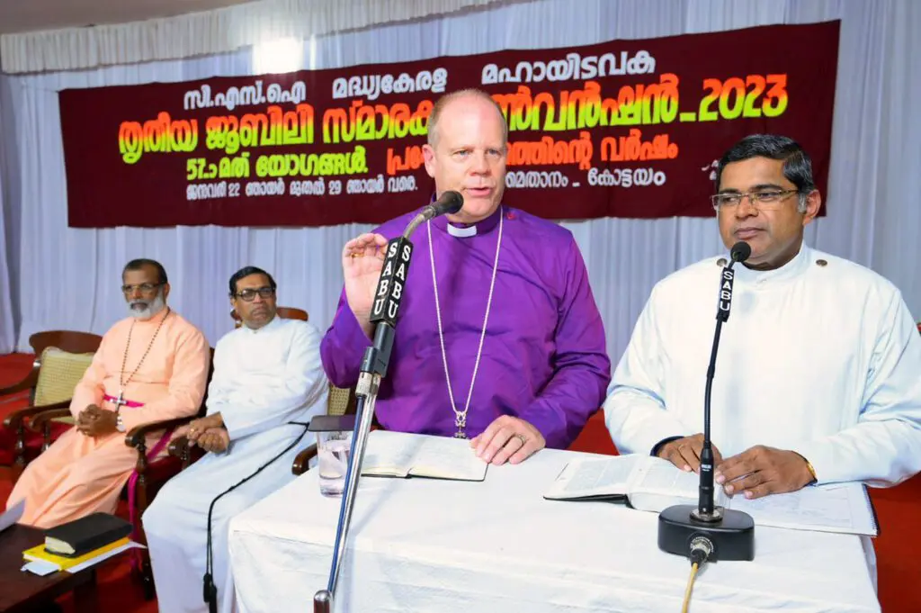
[[[373,333],[371,307],[386,251],[387,239],[380,234],[362,234],[346,242],[343,249],[345,300],[369,337]]]

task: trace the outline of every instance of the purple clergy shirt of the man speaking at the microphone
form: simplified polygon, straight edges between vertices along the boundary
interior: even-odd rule
[[[377,231],[402,234],[418,210]],[[611,381],[604,327],[589,276],[569,230],[508,206],[452,236],[444,216],[431,221],[438,299],[454,401],[463,410],[473,374],[495,261],[499,216],[503,238],[493,303],[467,413],[473,438],[495,418],[525,419],[548,447],[565,448],[601,406]],[[410,237],[406,280],[387,376],[376,414],[387,430],[453,436],[445,367],[438,341],[435,289],[426,225]],[[343,291],[321,343],[323,367],[339,387],[353,387],[370,339]]]

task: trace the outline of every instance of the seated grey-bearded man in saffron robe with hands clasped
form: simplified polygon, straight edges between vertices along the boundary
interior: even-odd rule
[[[133,428],[194,415],[202,404],[210,351],[204,335],[167,306],[163,266],[133,260],[122,272],[129,317],[102,337],[76,385],[76,427],[33,460],[7,507],[25,500],[21,523],[42,528],[89,513],[113,513],[137,462],[125,444]],[[150,435],[153,449],[164,432]]]

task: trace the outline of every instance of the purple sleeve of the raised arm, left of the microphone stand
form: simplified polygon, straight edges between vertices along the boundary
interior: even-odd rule
[[[339,306],[320,344],[323,370],[336,387],[352,387],[358,383],[358,371],[365,349],[371,344],[361,329],[355,313],[345,301],[345,290],[339,296]]]

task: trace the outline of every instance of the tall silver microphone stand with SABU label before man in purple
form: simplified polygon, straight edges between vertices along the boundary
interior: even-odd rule
[[[390,364],[397,314],[400,312],[410,258],[413,254],[413,243],[409,241],[409,236],[427,219],[443,212],[457,212],[463,202],[460,195],[457,197],[460,202],[456,203],[456,208],[449,208],[447,211],[426,207],[425,211],[413,218],[406,226],[402,236],[387,243],[387,253],[378,279],[374,306],[371,310],[370,321],[372,324],[377,324],[374,330],[374,342],[365,349],[356,386],[355,430],[353,430],[352,445],[349,450],[343,500],[339,508],[339,521],[336,525],[335,544],[332,548],[332,567],[326,589],[313,595],[314,613],[330,613],[332,599],[339,582],[339,571],[345,555],[349,525],[351,525],[352,512],[355,509],[358,479],[361,477],[361,466],[365,460],[367,437],[374,419],[374,406],[378,399],[380,380],[387,374]]]

